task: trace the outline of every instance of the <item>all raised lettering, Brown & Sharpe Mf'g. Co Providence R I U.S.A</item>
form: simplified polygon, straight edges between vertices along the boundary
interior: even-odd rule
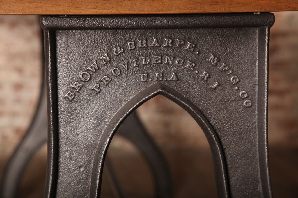
[[[199,79],[209,84],[210,90],[216,90],[217,87],[221,85],[220,80],[210,81],[209,78],[211,74],[208,72],[208,67],[216,67],[218,72],[224,72],[233,85],[235,91],[238,92],[238,97],[243,100],[243,105],[245,107],[251,107],[252,101],[248,100],[249,94],[238,86],[240,78],[238,76],[232,75],[233,70],[224,63],[219,57],[215,56],[212,53],[209,53],[207,59],[205,59],[208,64],[207,69],[201,69],[197,66],[194,60],[186,59],[184,57],[174,57],[171,54],[146,54],[142,56],[137,56],[133,58],[126,59],[123,63],[115,65],[109,70],[109,73],[100,74],[101,77],[97,80],[97,83],[90,84],[89,81],[94,76],[95,73],[98,73],[101,67],[106,67],[109,65],[113,59],[117,59],[117,56],[127,51],[135,51],[138,48],[180,48],[181,50],[189,51],[189,53],[195,53],[200,55],[201,52],[196,49],[196,44],[189,42],[187,40],[181,39],[170,39],[170,38],[138,38],[127,42],[126,46],[115,46],[111,49],[110,52],[105,52],[93,63],[88,65],[86,69],[78,75],[77,81],[70,85],[69,90],[66,92],[63,98],[66,98],[68,101],[72,101],[77,94],[80,93],[82,87],[90,87],[90,91],[94,92],[95,95],[100,95],[104,87],[109,86],[111,81],[117,80],[118,77],[122,75],[124,71],[133,70],[136,67],[145,67],[150,64],[154,65],[172,65],[175,67],[183,67],[191,72],[194,75],[199,75]],[[97,75],[98,76],[98,75]],[[216,74],[212,75],[213,77]],[[112,78],[114,77],[114,78]],[[213,79],[212,77],[212,79]],[[169,73],[160,73],[158,71],[153,71],[152,73],[139,73],[136,78],[142,82],[154,82],[154,81],[179,81],[181,80],[179,73],[169,72]],[[224,79],[221,79],[221,81]]]

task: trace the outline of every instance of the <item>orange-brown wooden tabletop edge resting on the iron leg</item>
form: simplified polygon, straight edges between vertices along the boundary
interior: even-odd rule
[[[169,14],[298,10],[298,0],[1,0],[0,14]]]

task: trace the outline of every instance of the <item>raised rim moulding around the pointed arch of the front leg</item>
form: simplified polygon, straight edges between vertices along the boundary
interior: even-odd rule
[[[184,98],[181,94],[164,84],[154,84],[145,90],[139,92],[131,100],[129,100],[111,119],[107,127],[103,131],[103,135],[97,147],[94,157],[94,164],[92,168],[90,197],[100,197],[100,189],[102,182],[103,164],[108,150],[108,146],[122,122],[130,115],[136,108],[145,103],[147,100],[155,97],[156,95],[163,95],[164,97],[172,100],[185,111],[198,123],[204,132],[209,143],[214,170],[216,177],[216,186],[218,197],[229,197],[229,188],[227,183],[227,172],[225,168],[225,159],[221,144],[218,140],[216,132],[212,125],[208,122],[206,117],[195,107],[188,99]]]

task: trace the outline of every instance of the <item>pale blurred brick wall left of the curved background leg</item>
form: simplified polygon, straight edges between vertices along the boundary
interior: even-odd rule
[[[30,125],[41,86],[36,15],[0,15],[0,169]],[[1,174],[0,173],[0,174]]]

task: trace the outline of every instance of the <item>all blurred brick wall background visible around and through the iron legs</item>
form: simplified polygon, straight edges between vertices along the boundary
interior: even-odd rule
[[[272,186],[275,197],[298,197],[298,12],[274,14],[276,22],[270,32],[268,98]],[[0,15],[0,176],[8,157],[30,125],[37,105],[42,63],[40,34],[39,17],[36,15]],[[208,192],[214,189],[212,161],[206,138],[203,133],[197,133],[195,121],[175,103],[161,96],[149,100],[138,112],[150,134],[162,146],[167,160],[171,163],[180,161],[180,164],[171,166],[174,177],[184,182],[184,186],[176,189],[177,197],[183,197],[185,190],[195,189],[196,186],[191,185],[193,179],[199,176],[205,179],[200,184],[205,189],[201,197],[207,197]],[[111,153],[115,158],[121,161],[123,156],[131,156],[139,164],[144,164],[138,152],[125,140],[115,138],[113,142]],[[124,153],[119,153],[117,148],[126,149],[121,149]],[[182,157],[177,159],[177,155]],[[187,167],[192,165],[184,161],[194,155],[205,160],[204,163],[193,162],[194,167],[199,164],[197,169],[201,172],[187,171]],[[30,177],[22,182],[24,197],[32,193],[37,184],[37,188],[41,188],[42,183],[38,180],[44,179],[45,160],[44,148],[27,170],[26,175]],[[125,163],[123,161],[122,165],[125,166]],[[148,175],[145,165],[137,168],[131,166],[139,174]],[[179,175],[177,172],[183,168],[185,171]],[[123,173],[122,177],[127,175]],[[143,184],[150,186],[150,179]],[[140,189],[143,189],[142,186]],[[40,197],[42,191],[27,197]]]

